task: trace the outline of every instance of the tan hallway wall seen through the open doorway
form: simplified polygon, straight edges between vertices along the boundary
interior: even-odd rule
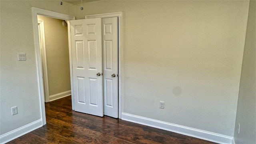
[[[49,95],[70,90],[68,26],[63,20],[38,16],[44,21]]]

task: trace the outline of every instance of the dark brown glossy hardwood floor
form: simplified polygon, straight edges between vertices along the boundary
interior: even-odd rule
[[[47,124],[8,144],[214,144],[104,116],[75,112],[71,97],[45,104]]]

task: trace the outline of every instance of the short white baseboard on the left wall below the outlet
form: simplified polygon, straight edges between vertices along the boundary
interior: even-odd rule
[[[43,126],[42,119],[31,122],[30,124],[17,128],[16,130],[7,132],[6,134],[3,134],[0,136],[0,144],[5,144],[7,142],[10,142],[15,138],[18,138],[24,134],[27,134],[28,132],[31,132],[37,128],[40,128],[41,126]]]

